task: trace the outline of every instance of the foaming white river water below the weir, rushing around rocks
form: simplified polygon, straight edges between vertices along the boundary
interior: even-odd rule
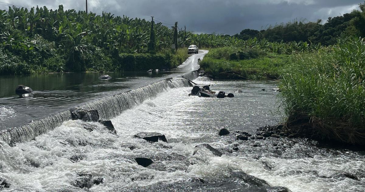
[[[204,77],[194,82],[211,84],[211,90],[235,97],[189,97],[187,80],[173,78],[86,103],[83,106],[98,108],[102,117],[114,116],[111,121],[118,135],[99,123],[66,118],[28,142],[14,147],[1,142],[0,178],[11,183],[3,191],[240,191],[238,183],[221,182],[237,171],[291,191],[365,191],[364,151],[329,148],[306,139],[235,139],[236,130],[254,134],[258,127],[280,121],[278,92],[272,91],[276,82]],[[0,118],[16,115],[4,108]],[[89,132],[85,126],[94,130]],[[221,128],[231,134],[219,136]],[[160,132],[168,143],[134,138],[138,132]],[[194,154],[195,146],[202,143],[223,155]],[[238,150],[233,150],[236,146]],[[83,158],[73,163],[73,155]],[[136,157],[154,163],[143,167]],[[358,180],[335,177],[339,172],[354,174]],[[82,174],[102,177],[103,183],[74,187]],[[205,183],[196,184],[197,177]]]

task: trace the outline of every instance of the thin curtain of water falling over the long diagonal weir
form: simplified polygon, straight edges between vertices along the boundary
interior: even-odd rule
[[[189,80],[193,80],[198,77],[198,72],[191,71],[173,78],[164,79],[138,89],[85,103],[77,106],[77,108],[96,109],[99,112],[100,118],[110,119],[121,114],[124,110],[142,103],[146,99],[156,97],[157,94],[162,93],[166,89],[191,86],[191,83],[188,80],[181,78],[182,76]],[[58,127],[64,121],[70,119],[70,110],[64,110],[47,117],[33,120],[20,127],[8,128],[7,130],[0,132],[0,140],[3,140],[10,145],[16,142],[28,141],[42,133]]]

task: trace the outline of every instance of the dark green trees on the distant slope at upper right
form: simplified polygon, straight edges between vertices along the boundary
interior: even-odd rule
[[[353,34],[365,37],[365,3],[359,5],[359,10],[328,18],[322,25],[322,20],[316,22],[293,21],[281,25],[270,26],[266,30],[245,29],[234,35],[242,40],[250,38],[267,39],[270,42],[308,42],[313,44],[334,45],[341,34]]]

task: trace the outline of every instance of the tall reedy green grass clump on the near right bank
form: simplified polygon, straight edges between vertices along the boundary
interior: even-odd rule
[[[365,144],[364,39],[340,39],[332,48],[295,55],[282,74],[288,123],[304,119],[322,139]]]

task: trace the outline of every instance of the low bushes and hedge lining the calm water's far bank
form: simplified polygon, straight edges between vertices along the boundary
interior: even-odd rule
[[[93,53],[85,57],[82,64],[74,69],[68,66],[65,55],[54,56],[40,63],[28,63],[18,56],[0,50],[0,74],[41,74],[50,72],[99,72],[99,71],[138,71],[149,69],[167,70],[182,64],[187,58],[187,49],[166,50],[162,53]],[[73,65],[73,64],[72,64]]]

